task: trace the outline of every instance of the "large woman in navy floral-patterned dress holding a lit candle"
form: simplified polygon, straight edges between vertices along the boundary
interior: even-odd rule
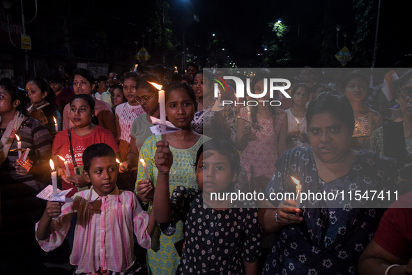
[[[322,93],[309,104],[307,132],[312,147],[289,149],[276,163],[266,195],[337,193],[336,200],[271,200],[259,207],[259,223],[276,233],[264,274],[357,274],[358,258],[369,243],[379,219],[379,201],[362,205],[347,192],[383,190],[395,181],[395,163],[371,151],[351,149],[354,117],[351,103]],[[340,194],[340,193],[339,193]],[[382,202],[382,201],[381,201]],[[364,208],[361,208],[364,207]]]

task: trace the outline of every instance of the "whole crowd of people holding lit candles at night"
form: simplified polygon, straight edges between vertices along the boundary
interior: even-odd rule
[[[258,70],[245,98],[225,73],[2,79],[0,274],[46,274],[65,245],[72,274],[412,274],[412,70],[390,87],[398,117],[370,104],[361,70],[275,75],[284,94]],[[36,197],[49,184],[64,200]],[[399,201],[271,197],[297,186]],[[265,199],[213,199],[254,191]]]

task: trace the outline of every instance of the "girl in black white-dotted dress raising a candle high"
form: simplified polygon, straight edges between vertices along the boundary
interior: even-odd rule
[[[258,274],[261,230],[257,209],[238,202],[213,200],[211,193],[234,192],[240,169],[238,151],[226,140],[208,140],[197,151],[199,189],[177,186],[169,195],[169,172],[174,156],[168,142],[157,142],[158,181],[155,218],[161,228],[185,223],[184,249],[176,274]]]

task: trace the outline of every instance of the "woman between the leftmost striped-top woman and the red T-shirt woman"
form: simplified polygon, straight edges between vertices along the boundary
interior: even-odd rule
[[[30,99],[29,115],[43,123],[50,133],[61,131],[61,117],[56,94],[43,77],[34,77],[26,84]],[[57,124],[57,129],[56,129]]]

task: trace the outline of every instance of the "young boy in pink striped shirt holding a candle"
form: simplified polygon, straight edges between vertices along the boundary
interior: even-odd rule
[[[64,205],[47,202],[36,224],[36,239],[44,251],[59,247],[77,213],[70,255],[75,274],[135,274],[133,232],[139,244],[149,248],[154,216],[142,210],[134,193],[117,188],[116,154],[107,144],[87,147],[83,163],[91,189],[76,193],[73,202]]]

